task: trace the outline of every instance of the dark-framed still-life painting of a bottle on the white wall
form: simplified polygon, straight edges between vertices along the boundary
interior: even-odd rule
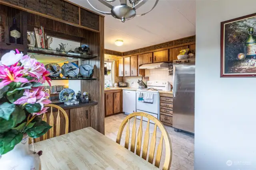
[[[220,77],[256,76],[256,13],[221,22]]]

